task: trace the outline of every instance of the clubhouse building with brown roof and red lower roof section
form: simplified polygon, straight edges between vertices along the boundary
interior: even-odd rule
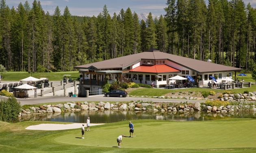
[[[75,66],[82,75],[79,85],[79,96],[85,96],[85,91],[102,91],[102,85],[110,84],[125,76],[135,83],[152,84],[154,87],[164,87],[169,78],[175,76],[190,76],[195,85],[203,86],[211,77],[217,76],[221,81],[227,74],[241,71],[241,68],[224,66],[211,62],[194,60],[187,57],[163,53],[151,48],[142,53],[126,55],[110,60]],[[198,79],[200,76],[200,79]],[[211,77],[210,77],[211,76]]]

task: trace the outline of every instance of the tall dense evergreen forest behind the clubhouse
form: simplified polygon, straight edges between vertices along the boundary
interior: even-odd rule
[[[50,15],[40,1],[9,8],[0,0],[0,64],[8,71],[72,71],[152,47],[174,55],[243,68],[256,59],[256,9],[242,0],[167,0],[166,14],[146,21],[127,8],[113,16]],[[79,19],[79,21],[78,21]]]

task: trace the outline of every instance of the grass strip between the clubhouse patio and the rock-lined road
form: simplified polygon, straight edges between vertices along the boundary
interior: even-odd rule
[[[129,93],[129,95],[132,96],[163,96],[165,94],[171,93],[171,92],[177,92],[177,91],[215,91],[215,92],[224,92],[223,89],[210,89],[210,88],[184,88],[184,89],[156,89],[156,88],[145,88],[145,89],[136,89]],[[234,93],[242,93],[244,91],[256,91],[256,85],[252,85],[250,88],[238,88],[238,89],[228,89],[228,91],[234,91]]]

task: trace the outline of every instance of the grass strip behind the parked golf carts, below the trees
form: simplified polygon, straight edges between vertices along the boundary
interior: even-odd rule
[[[44,73],[33,73],[32,77],[37,79],[39,78],[48,78],[49,81],[59,81],[63,79],[63,75],[70,74],[73,80],[79,78],[80,73],[78,71],[69,71],[69,72],[44,72]],[[4,79],[2,81],[19,81],[27,77],[31,77],[31,73],[28,72],[7,72],[1,74]]]

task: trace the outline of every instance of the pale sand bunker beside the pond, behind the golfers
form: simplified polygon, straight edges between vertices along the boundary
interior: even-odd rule
[[[86,130],[86,123],[85,130]],[[90,123],[90,126],[94,125],[102,125],[102,124],[93,124]],[[39,125],[31,125],[26,127],[27,130],[67,130],[67,129],[77,129],[81,128],[82,123],[72,123],[72,124],[39,124]]]

